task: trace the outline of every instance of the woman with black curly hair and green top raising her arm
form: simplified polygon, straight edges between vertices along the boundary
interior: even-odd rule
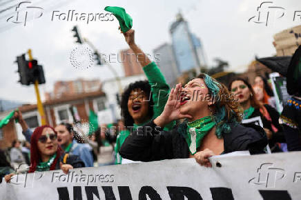
[[[150,61],[135,43],[135,30],[130,29],[123,34],[126,43],[128,43],[130,49],[137,56],[137,60],[142,66],[148,80],[130,83],[122,94],[121,110],[126,129],[122,130],[117,137],[115,146],[115,163],[117,164],[131,162],[128,159],[123,160],[119,154],[124,140],[128,137],[132,128],[135,130],[138,126],[143,126],[162,113],[169,92],[169,86],[156,63]],[[172,126],[173,121],[166,125],[165,129],[169,130]]]

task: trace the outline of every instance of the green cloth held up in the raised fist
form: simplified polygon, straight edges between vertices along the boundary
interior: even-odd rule
[[[120,29],[122,32],[127,32],[133,26],[133,19],[129,14],[126,13],[126,10],[117,6],[106,6],[104,10],[112,12],[114,16],[118,19]]]

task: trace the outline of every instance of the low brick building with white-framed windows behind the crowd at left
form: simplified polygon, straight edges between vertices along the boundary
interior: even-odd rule
[[[86,92],[82,94],[63,96],[59,99],[52,99],[43,102],[43,109],[46,115],[46,123],[52,127],[57,126],[62,121],[75,123],[80,121],[88,128],[88,116],[90,110],[97,115],[108,110],[108,101],[104,92]],[[36,104],[28,104],[19,107],[23,119],[31,130],[41,126],[41,116]],[[0,113],[3,119],[12,110]],[[98,119],[101,124],[102,119]],[[8,148],[14,139],[25,140],[19,123],[13,120],[4,126],[0,132],[0,148]]]

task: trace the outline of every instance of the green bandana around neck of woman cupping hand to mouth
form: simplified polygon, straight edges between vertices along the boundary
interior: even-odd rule
[[[211,116],[203,117],[187,123],[186,142],[188,143],[191,154],[195,154],[197,152],[197,148],[200,147],[202,139],[209,130],[213,128],[213,126],[215,126],[215,121],[213,121]]]

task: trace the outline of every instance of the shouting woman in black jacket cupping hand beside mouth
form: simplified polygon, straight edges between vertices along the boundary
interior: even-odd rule
[[[119,153],[134,161],[195,157],[208,167],[208,157],[215,154],[238,150],[264,152],[264,130],[240,125],[241,114],[233,97],[222,83],[207,74],[200,74],[183,89],[177,84],[162,114],[130,134]],[[186,120],[171,131],[163,130],[177,119]]]

